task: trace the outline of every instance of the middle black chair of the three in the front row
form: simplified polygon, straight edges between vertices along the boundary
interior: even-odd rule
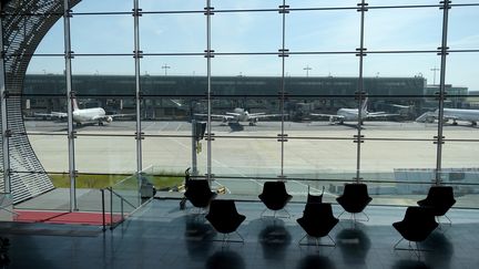
[[[316,247],[336,246],[335,240],[333,240],[333,238],[329,236],[329,231],[337,225],[339,220],[333,215],[333,208],[330,204],[306,204],[303,217],[298,218],[296,221],[306,231],[306,235],[299,240],[299,245],[309,245],[302,244],[303,239],[309,236],[315,238]],[[329,239],[333,241],[333,245],[319,245],[319,238],[325,236],[329,237]]]

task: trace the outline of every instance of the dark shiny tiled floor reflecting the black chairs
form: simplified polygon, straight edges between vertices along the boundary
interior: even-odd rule
[[[259,203],[237,203],[246,215],[238,232],[244,244],[223,246],[202,217],[179,209],[179,200],[153,200],[113,231],[99,227],[1,224],[10,239],[6,268],[479,268],[479,210],[453,209],[453,225],[442,225],[421,245],[420,258],[394,250],[400,239],[391,223],[404,207],[370,206],[370,220],[342,220],[330,232],[332,247],[298,246],[302,204],[287,206],[291,218],[259,218]],[[335,215],[340,208],[334,206]],[[234,237],[234,236],[232,236]],[[323,238],[322,242],[329,242]],[[407,242],[404,242],[407,246]]]

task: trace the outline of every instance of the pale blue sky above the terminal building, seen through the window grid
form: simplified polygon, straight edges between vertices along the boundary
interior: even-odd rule
[[[277,0],[212,0],[215,10],[274,9]],[[356,7],[357,0],[288,1],[291,8]],[[411,4],[406,0],[369,0],[369,7]],[[453,0],[470,3],[475,0]],[[479,1],[477,1],[479,2]],[[414,4],[437,4],[416,0]],[[131,11],[132,0],[83,0],[74,12]],[[201,0],[140,0],[143,11],[203,10]],[[373,53],[375,51],[434,51],[441,43],[442,11],[432,8],[369,9],[365,19],[365,76],[416,76],[439,82],[440,56],[436,53]],[[278,12],[216,12],[212,18],[212,49],[217,53],[275,53],[282,48],[282,14]],[[479,50],[479,7],[450,10],[448,46],[451,50]],[[360,13],[351,10],[292,11],[286,14],[285,48],[291,52],[354,52],[359,48]],[[77,54],[131,54],[133,17],[73,15],[72,50]],[[144,53],[202,53],[206,49],[206,18],[200,13],[143,14],[140,18],[140,46]],[[63,22],[48,33],[35,53],[29,73],[62,73],[64,70]],[[479,91],[479,52],[451,52],[446,65],[446,83]],[[212,75],[281,75],[277,55],[216,55]],[[206,60],[201,55],[145,55],[142,74],[205,75]],[[125,56],[78,55],[74,74],[134,74],[134,61]],[[291,55],[285,59],[288,76],[357,76],[359,58],[355,54]],[[436,79],[435,79],[436,77]]]

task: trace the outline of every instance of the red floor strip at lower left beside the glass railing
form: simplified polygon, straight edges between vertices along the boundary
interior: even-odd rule
[[[39,211],[39,210],[16,210],[19,215],[14,221],[21,223],[47,223],[47,224],[81,224],[81,225],[103,225],[101,213],[81,211]],[[113,215],[114,223],[121,220],[121,215]],[[111,224],[111,215],[105,215],[105,223]]]

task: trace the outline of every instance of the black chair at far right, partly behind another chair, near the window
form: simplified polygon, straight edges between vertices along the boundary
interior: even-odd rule
[[[453,190],[451,186],[431,186],[426,199],[419,200],[420,207],[429,207],[432,209],[432,214],[439,219],[440,216],[445,216],[449,224],[452,221],[446,213],[456,204],[453,198]]]

